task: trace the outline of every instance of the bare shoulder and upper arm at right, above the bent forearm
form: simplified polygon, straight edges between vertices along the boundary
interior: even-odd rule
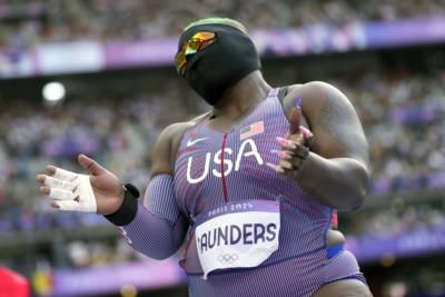
[[[289,115],[297,98],[314,133],[313,150],[325,158],[350,157],[368,162],[368,147],[359,118],[349,99],[323,81],[289,86],[284,108]]]

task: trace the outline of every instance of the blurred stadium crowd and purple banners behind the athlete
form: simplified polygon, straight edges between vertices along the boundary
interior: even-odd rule
[[[151,260],[100,216],[55,214],[34,175],[86,152],[145,188],[162,127],[207,109],[172,58],[210,16],[246,24],[273,86],[348,96],[374,170],[365,206],[339,214],[348,248],[376,297],[445,296],[444,0],[0,1],[0,267],[30,296],[187,296],[180,253]]]

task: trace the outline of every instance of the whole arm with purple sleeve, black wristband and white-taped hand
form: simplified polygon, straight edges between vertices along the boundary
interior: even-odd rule
[[[48,166],[47,175],[37,176],[40,191],[51,198],[53,208],[105,215],[120,227],[135,249],[151,258],[167,258],[179,249],[188,229],[176,204],[172,176],[185,128],[172,125],[159,136],[144,202],[137,201],[131,190],[125,191],[115,175],[83,155],[78,160],[89,176]]]

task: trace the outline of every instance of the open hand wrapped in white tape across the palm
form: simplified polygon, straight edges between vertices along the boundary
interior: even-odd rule
[[[46,175],[37,175],[40,192],[51,199],[51,206],[60,210],[75,210],[109,215],[123,201],[123,188],[118,178],[85,155],[79,155],[80,166],[89,175],[71,172],[47,166]]]

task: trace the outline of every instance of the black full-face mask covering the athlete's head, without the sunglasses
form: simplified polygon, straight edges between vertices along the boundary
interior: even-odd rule
[[[250,38],[227,24],[199,24],[185,31],[179,49],[197,32],[215,32],[216,41],[187,57],[185,78],[209,105],[215,106],[227,89],[260,69],[258,52]]]

